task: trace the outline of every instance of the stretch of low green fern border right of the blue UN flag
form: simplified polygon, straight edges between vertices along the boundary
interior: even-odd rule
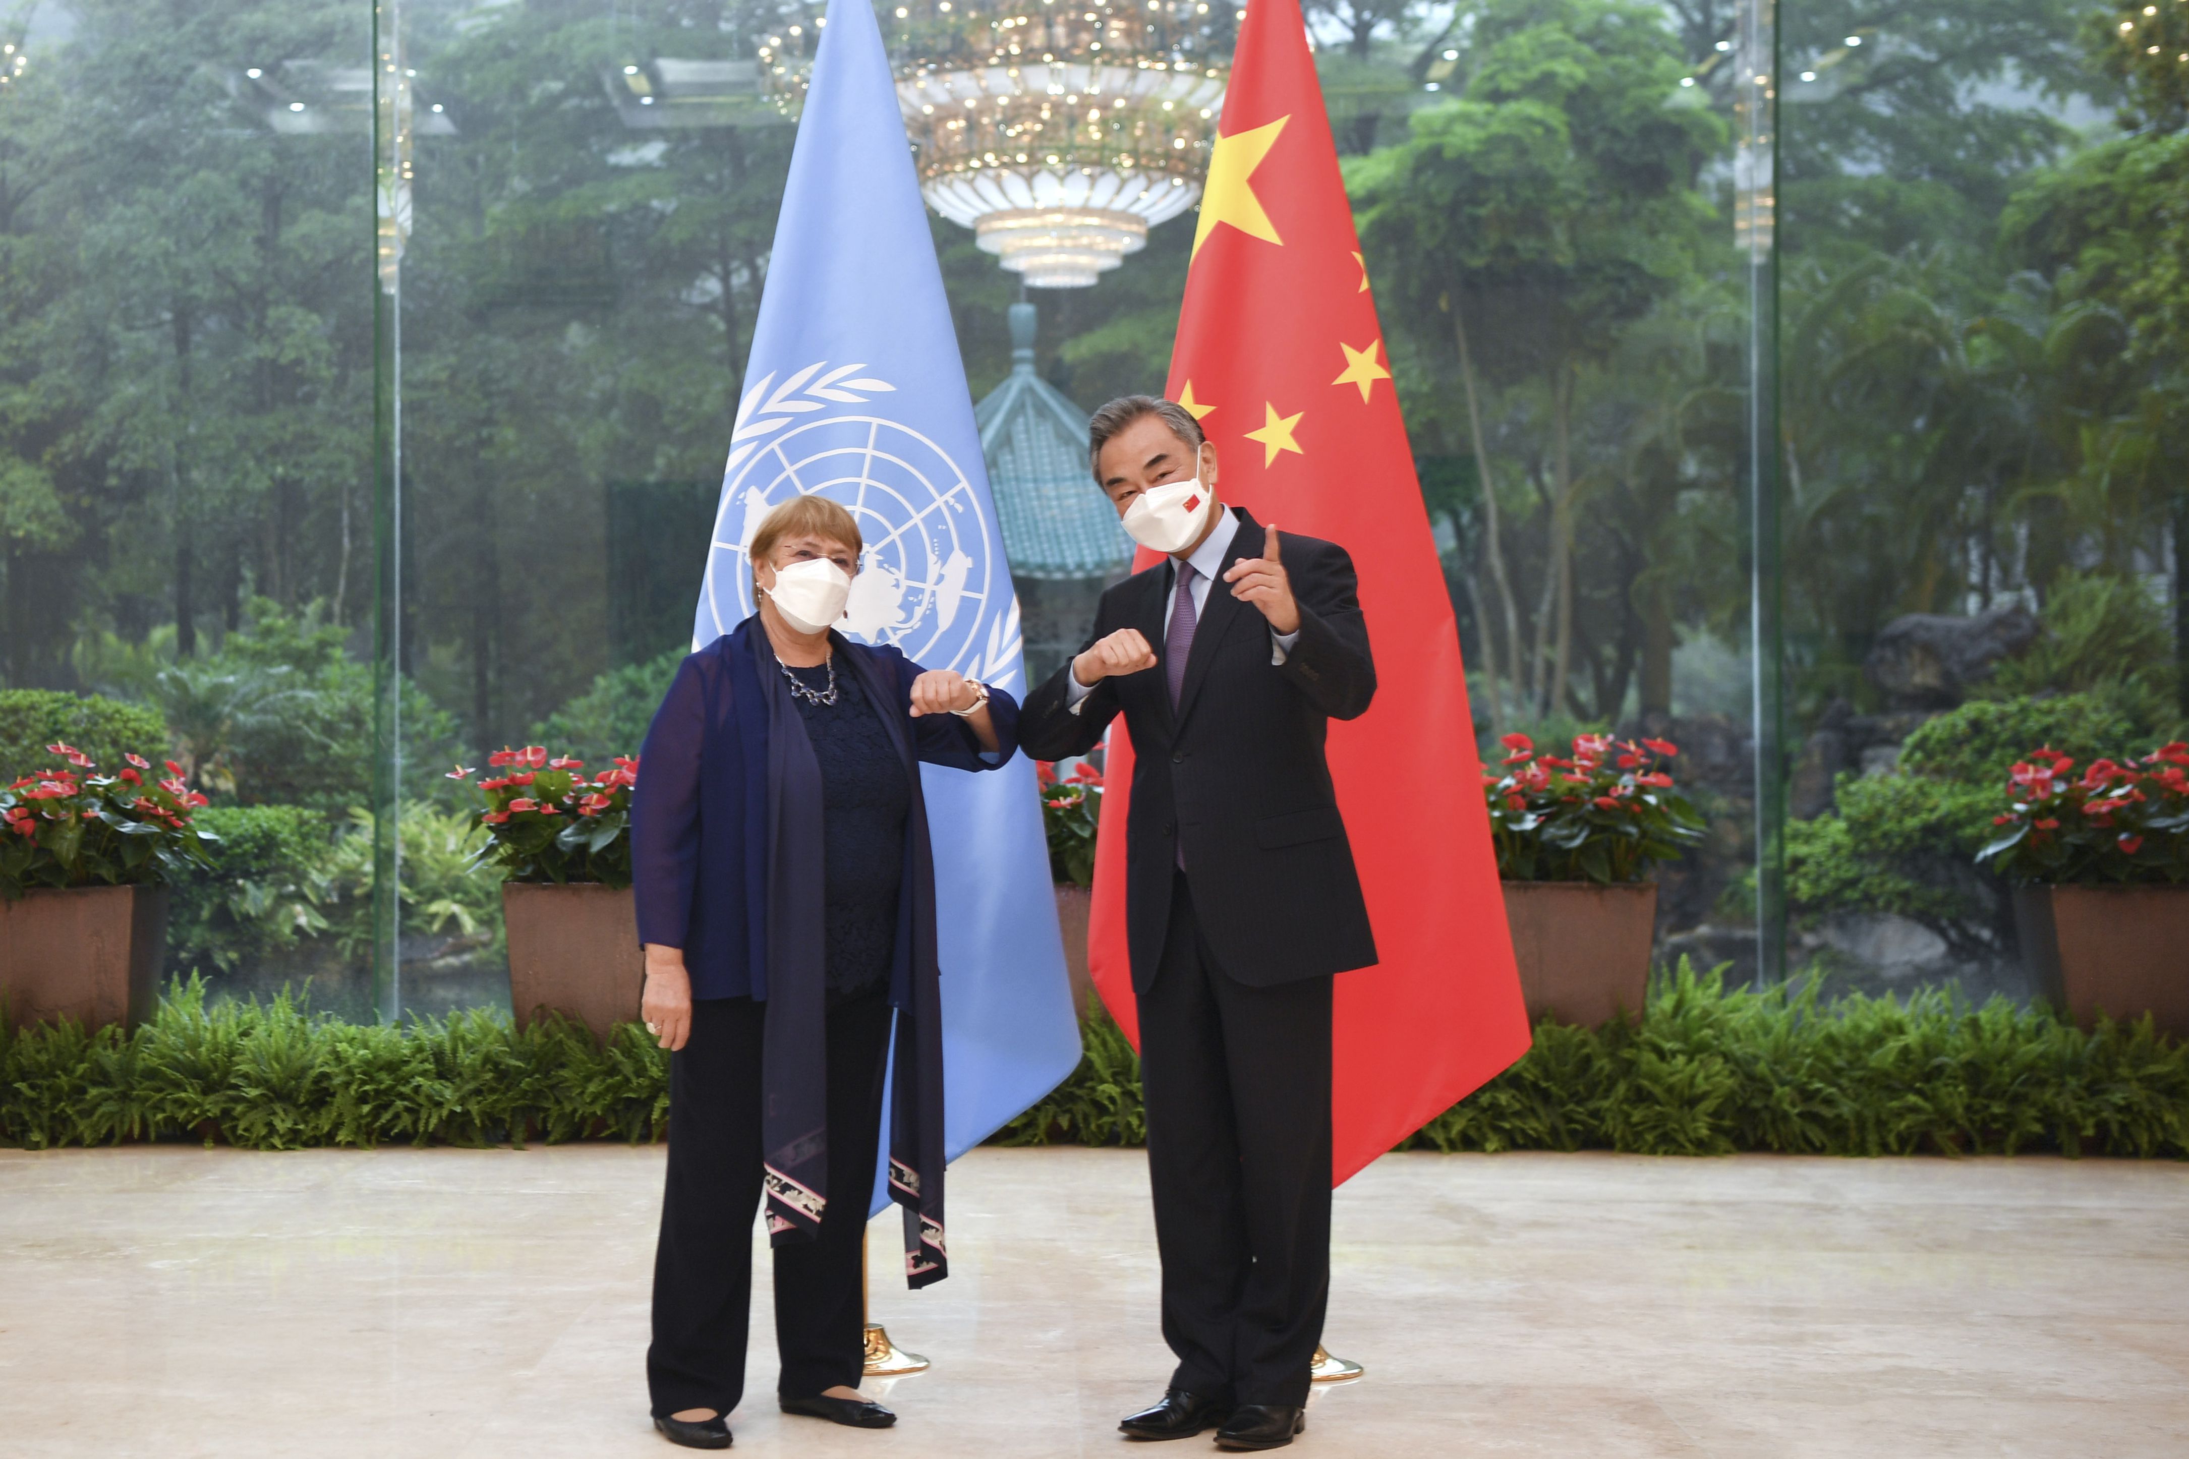
[[[1817,987],[1727,991],[1681,960],[1635,1022],[1537,1024],[1510,1070],[1401,1148],[2189,1157],[2189,1046],[2147,1017],[2082,1032],[2003,997],[1823,1006]],[[1105,1013],[1086,1046],[1000,1144],[1145,1140],[1138,1063]]]

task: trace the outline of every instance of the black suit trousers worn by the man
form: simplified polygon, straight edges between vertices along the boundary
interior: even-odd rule
[[[1331,1288],[1331,978],[1230,978],[1178,873],[1140,1081],[1171,1385],[1305,1404]]]

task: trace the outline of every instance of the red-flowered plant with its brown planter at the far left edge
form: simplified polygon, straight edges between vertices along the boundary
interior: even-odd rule
[[[0,790],[0,1004],[15,1024],[149,1017],[166,952],[166,882],[206,866],[190,825],[206,796],[142,755],[101,774],[90,755]]]

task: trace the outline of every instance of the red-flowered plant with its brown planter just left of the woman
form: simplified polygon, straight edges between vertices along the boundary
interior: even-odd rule
[[[630,906],[630,787],[639,761],[615,757],[587,774],[582,759],[543,746],[488,757],[503,774],[479,781],[486,844],[477,864],[501,868],[510,943],[510,1011],[530,1024],[560,1011],[606,1043],[639,1015],[646,958]],[[451,781],[471,770],[458,766]]]

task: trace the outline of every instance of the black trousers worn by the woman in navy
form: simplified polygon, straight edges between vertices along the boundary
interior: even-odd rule
[[[777,1393],[858,1387],[865,1367],[860,1253],[882,1122],[889,993],[827,1013],[827,1210],[810,1242],[775,1247]],[[692,1002],[692,1037],[670,1054],[670,1172],[655,1247],[655,1417],[729,1413],[744,1396],[760,1212],[760,1048],[766,1004]]]

